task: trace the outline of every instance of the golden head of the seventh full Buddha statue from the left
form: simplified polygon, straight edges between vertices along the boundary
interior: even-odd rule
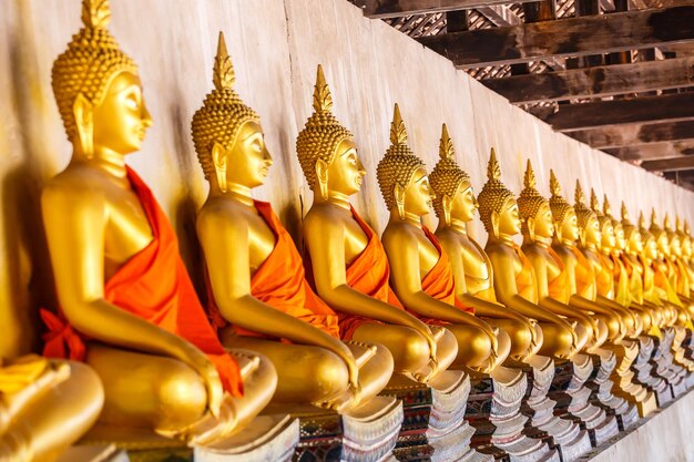
[[[537,189],[535,173],[530,160],[525,166],[523,176],[523,189],[518,197],[518,209],[522,222],[523,235],[534,242],[535,237],[551,239],[554,235],[552,211],[548,199],[540,195]]]

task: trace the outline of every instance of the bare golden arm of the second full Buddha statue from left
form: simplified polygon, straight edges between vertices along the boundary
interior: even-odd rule
[[[251,256],[246,222],[218,212],[203,209],[197,217],[197,234],[205,254],[214,299],[229,322],[269,337],[325,348],[337,355],[349,369],[350,383],[358,383],[358,368],[349,348],[290,315],[253,297]]]

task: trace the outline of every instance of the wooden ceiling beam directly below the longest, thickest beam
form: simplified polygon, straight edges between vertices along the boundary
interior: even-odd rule
[[[511,103],[680,89],[694,86],[694,57],[484,79],[482,83]]]

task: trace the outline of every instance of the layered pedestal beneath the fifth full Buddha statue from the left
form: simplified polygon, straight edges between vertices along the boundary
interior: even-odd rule
[[[530,417],[527,432],[540,430],[559,448],[563,462],[578,460],[591,450],[588,432],[569,419],[554,415],[555,402],[548,398],[554,379],[554,361],[545,357],[531,358],[527,369],[530,387],[522,403],[522,412]]]

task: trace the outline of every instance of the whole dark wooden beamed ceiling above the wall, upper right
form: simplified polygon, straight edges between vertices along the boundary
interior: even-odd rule
[[[350,0],[576,140],[694,189],[694,0]]]

